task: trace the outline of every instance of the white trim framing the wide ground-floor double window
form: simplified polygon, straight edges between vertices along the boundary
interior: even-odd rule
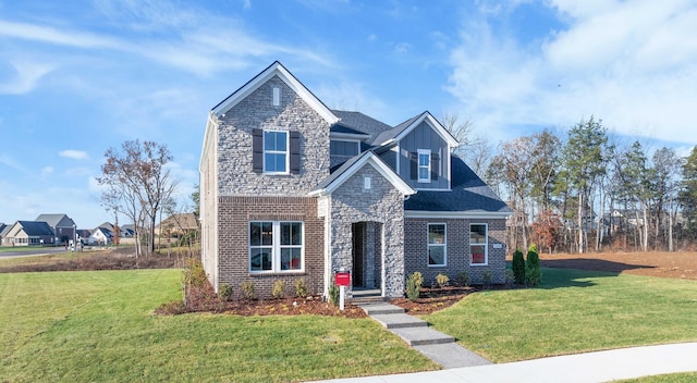
[[[271,223],[271,245],[252,246],[252,224],[254,223]],[[281,244],[281,225],[284,223],[301,224],[301,245],[282,245]],[[252,250],[258,248],[271,249],[271,270],[252,270]],[[281,254],[284,248],[301,249],[301,268],[299,269],[281,269]],[[273,220],[254,220],[247,222],[247,270],[249,274],[285,274],[285,273],[304,273],[305,272],[305,222],[303,221],[273,221]]]

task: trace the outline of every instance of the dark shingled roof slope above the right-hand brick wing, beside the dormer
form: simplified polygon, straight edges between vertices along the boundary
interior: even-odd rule
[[[405,215],[468,215],[473,218],[505,218],[511,208],[457,156],[451,156],[452,189],[418,193],[404,202]]]

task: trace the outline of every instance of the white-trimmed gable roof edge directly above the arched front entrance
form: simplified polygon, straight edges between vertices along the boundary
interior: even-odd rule
[[[339,166],[329,177],[322,181],[314,190],[309,193],[310,196],[326,195],[333,193],[339,186],[346,182],[352,175],[356,174],[364,165],[370,164],[380,175],[382,175],[388,182],[400,190],[405,196],[411,196],[416,190],[409,186],[402,177],[400,177],[384,161],[380,159],[371,150],[364,151],[363,153],[351,158]]]

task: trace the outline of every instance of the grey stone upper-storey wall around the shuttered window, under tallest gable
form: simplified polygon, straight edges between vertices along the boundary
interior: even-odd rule
[[[281,88],[279,107],[272,87]],[[329,123],[278,76],[218,119],[220,195],[306,195],[329,176]],[[253,171],[252,131],[301,133],[301,173],[265,175]]]

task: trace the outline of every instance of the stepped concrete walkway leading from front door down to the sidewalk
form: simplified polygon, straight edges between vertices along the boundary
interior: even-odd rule
[[[359,305],[370,318],[395,333],[443,368],[490,365],[481,356],[455,343],[455,338],[430,329],[426,321],[404,313],[404,309],[387,302]]]

